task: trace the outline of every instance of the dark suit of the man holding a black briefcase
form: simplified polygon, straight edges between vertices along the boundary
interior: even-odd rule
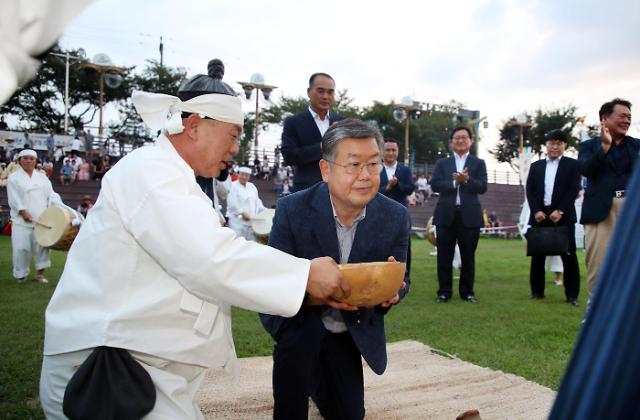
[[[536,222],[535,214],[539,211],[543,211],[547,217],[554,210],[560,210],[564,213],[558,222],[558,226],[567,226],[569,230],[569,253],[560,256],[564,266],[564,291],[567,300],[575,300],[580,292],[580,269],[578,267],[578,257],[576,257],[575,235],[575,223],[577,221],[575,201],[580,192],[578,161],[562,157],[558,162],[558,172],[553,183],[553,193],[549,206],[544,205],[546,169],[546,159],[534,162],[529,169],[526,186],[527,202],[531,210],[529,224],[531,226],[553,225],[553,222],[549,220],[541,223]],[[544,256],[531,257],[529,280],[531,294],[536,297],[544,296],[544,261]]]

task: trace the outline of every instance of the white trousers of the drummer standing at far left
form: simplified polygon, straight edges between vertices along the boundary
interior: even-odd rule
[[[36,271],[51,267],[49,248],[38,245],[32,227],[14,223],[11,226],[11,248],[13,249],[13,277],[17,279],[29,275],[32,254],[36,258]]]

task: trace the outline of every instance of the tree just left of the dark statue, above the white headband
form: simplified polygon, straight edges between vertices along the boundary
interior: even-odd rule
[[[119,102],[118,114],[120,118],[108,125],[111,133],[125,136],[128,141],[137,144],[155,139],[157,133],[149,132],[131,103],[131,93],[134,90],[142,90],[177,96],[180,84],[185,78],[186,71],[181,67],[162,66],[156,60],[147,60],[142,73],[134,74],[128,80],[127,97]]]

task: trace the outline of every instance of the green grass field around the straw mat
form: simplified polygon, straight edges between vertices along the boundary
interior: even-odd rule
[[[580,327],[580,307],[564,303],[562,287],[547,277],[547,298],[529,299],[529,258],[520,240],[481,239],[476,256],[476,305],[455,297],[436,304],[433,247],[414,239],[411,293],[386,317],[388,341],[418,340],[480,366],[523,376],[557,389]],[[38,381],[44,310],[66,253],[54,251],[48,285],[17,284],[11,275],[11,242],[0,237],[0,418],[41,418]],[[582,261],[583,254],[578,259]],[[584,282],[584,265],[581,273]],[[33,272],[31,274],[33,278]],[[457,289],[457,281],[454,281]],[[235,309],[238,356],[271,353],[270,337],[255,313]]]

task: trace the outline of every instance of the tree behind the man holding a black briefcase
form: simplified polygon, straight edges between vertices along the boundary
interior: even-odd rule
[[[567,134],[568,147],[575,147],[578,144],[579,140],[572,135],[573,128],[578,122],[575,106],[568,105],[548,111],[537,109],[533,113],[526,113],[525,116],[527,122],[522,125],[523,146],[530,146],[534,153],[542,154],[545,134],[555,129],[561,129]],[[490,152],[498,162],[507,162],[515,170],[518,170],[520,129],[521,125],[516,121],[515,116],[503,122],[500,128],[500,141]]]

